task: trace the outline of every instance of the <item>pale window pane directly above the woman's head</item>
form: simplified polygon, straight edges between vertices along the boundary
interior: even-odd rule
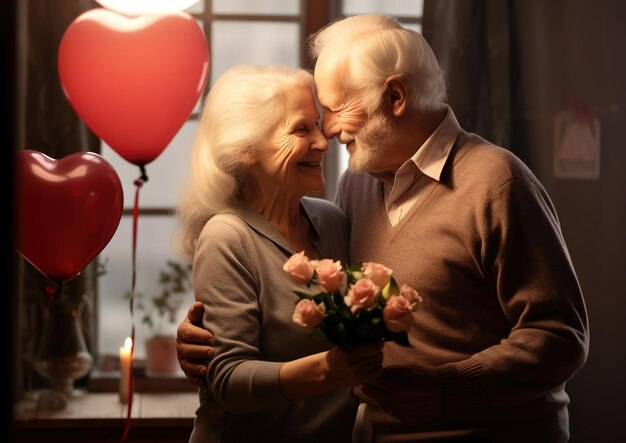
[[[300,66],[296,23],[215,21],[211,30],[211,84],[240,64]]]

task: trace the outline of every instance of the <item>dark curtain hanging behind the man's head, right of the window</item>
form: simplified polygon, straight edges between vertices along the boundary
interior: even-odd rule
[[[509,2],[425,0],[423,34],[461,126],[512,148]]]

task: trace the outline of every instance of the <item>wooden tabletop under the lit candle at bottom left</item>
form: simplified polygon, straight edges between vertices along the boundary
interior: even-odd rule
[[[126,426],[127,405],[117,393],[82,393],[65,409],[45,411],[37,407],[37,393],[15,405],[17,440],[29,442],[118,442]],[[184,393],[135,393],[127,442],[187,442],[198,407],[198,395]]]

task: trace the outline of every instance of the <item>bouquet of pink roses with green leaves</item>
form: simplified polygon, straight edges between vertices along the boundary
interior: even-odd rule
[[[339,346],[380,340],[409,345],[407,331],[422,298],[408,285],[399,288],[386,266],[366,262],[344,269],[339,261],[310,260],[302,251],[283,270],[295,283],[322,289],[313,295],[295,291],[300,300],[294,322],[321,331]]]

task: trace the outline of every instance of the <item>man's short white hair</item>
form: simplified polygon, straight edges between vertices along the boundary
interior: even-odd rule
[[[355,15],[336,20],[309,37],[309,55],[317,59],[332,52],[342,68],[341,83],[360,94],[368,111],[380,103],[385,81],[399,76],[415,109],[444,106],[444,73],[424,37],[382,14]],[[334,72],[339,72],[335,70]]]

